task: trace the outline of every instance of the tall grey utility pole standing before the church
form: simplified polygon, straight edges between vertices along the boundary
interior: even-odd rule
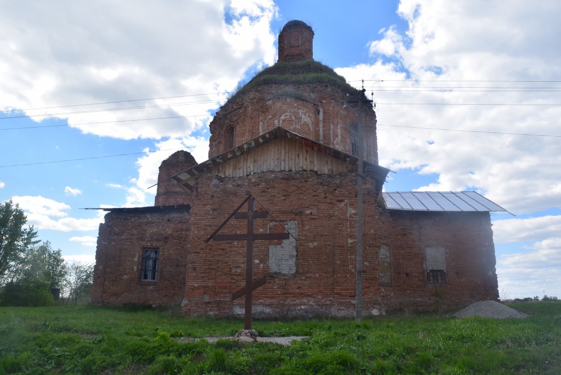
[[[364,80],[362,80],[362,90],[358,94],[357,100],[350,100],[349,103],[358,103],[358,166],[357,166],[357,225],[356,225],[356,299],[355,299],[355,319],[357,322],[362,320],[362,235],[364,234],[362,200],[364,196],[364,129],[362,127],[362,103],[372,103],[366,99],[364,93]]]

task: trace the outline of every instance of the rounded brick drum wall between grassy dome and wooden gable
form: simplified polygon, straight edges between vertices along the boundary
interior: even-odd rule
[[[358,104],[341,88],[325,84],[270,84],[231,99],[210,122],[209,158],[228,150],[229,131],[239,145],[276,126],[351,153],[350,126]],[[354,93],[352,93],[354,95]],[[376,113],[363,106],[365,160],[378,163]]]

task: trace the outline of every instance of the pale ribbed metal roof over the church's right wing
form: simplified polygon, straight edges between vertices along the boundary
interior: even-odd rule
[[[507,212],[475,191],[390,191],[383,196],[387,209]]]

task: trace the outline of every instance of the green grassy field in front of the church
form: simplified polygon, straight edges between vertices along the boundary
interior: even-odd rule
[[[254,321],[292,346],[233,336],[242,319],[91,306],[0,308],[0,374],[561,374],[561,301],[512,304],[526,319],[442,315]]]

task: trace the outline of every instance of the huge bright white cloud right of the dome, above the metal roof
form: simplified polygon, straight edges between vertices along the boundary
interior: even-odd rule
[[[436,173],[417,188],[477,190],[515,214],[561,207],[558,138],[385,126],[560,135],[559,106],[527,105],[557,97],[521,89],[557,87],[539,81],[561,75],[561,50],[551,48],[559,12],[557,2],[401,1],[407,33],[382,30],[370,65],[337,69],[350,81],[384,80],[366,87],[378,103],[380,164]]]

